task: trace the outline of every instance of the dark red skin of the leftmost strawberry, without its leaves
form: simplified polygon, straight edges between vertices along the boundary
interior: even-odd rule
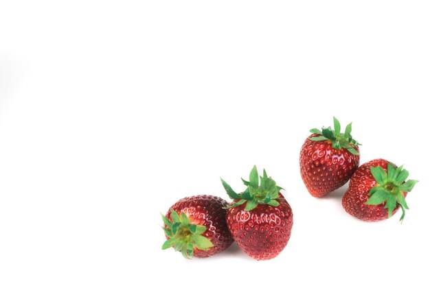
[[[225,222],[227,209],[224,207],[228,204],[227,201],[214,195],[194,195],[183,198],[170,206],[179,214],[185,213],[192,224],[206,226],[206,231],[202,235],[210,239],[214,246],[209,250],[194,248],[194,257],[210,257],[225,250],[233,243],[233,237]],[[172,222],[170,208],[166,217]]]

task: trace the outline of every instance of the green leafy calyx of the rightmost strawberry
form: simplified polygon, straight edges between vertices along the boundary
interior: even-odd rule
[[[388,209],[388,217],[391,217],[397,204],[402,208],[402,216],[400,222],[403,222],[405,210],[409,209],[406,204],[405,196],[402,192],[411,191],[417,180],[406,180],[409,172],[403,169],[403,165],[396,168],[392,163],[388,163],[387,172],[380,167],[370,167],[372,176],[378,183],[370,192],[370,198],[366,204],[382,204],[385,202],[385,208]]]

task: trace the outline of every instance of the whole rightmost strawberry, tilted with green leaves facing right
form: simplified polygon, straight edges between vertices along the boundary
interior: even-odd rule
[[[384,159],[371,160],[359,167],[342,198],[343,208],[354,217],[367,222],[387,219],[402,208],[409,209],[405,196],[417,180],[406,180],[409,172]]]

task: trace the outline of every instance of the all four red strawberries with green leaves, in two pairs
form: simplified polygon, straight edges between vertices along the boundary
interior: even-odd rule
[[[341,133],[334,117],[332,128],[311,129],[300,152],[300,173],[310,195],[321,198],[350,180],[343,195],[345,210],[365,221],[391,217],[398,208],[405,217],[405,196],[416,184],[406,180],[408,171],[384,159],[359,167],[359,143],[352,139],[348,124]],[[280,193],[282,189],[268,177],[259,176],[256,166],[243,180],[246,189],[236,193],[221,179],[233,202],[213,195],[183,198],[163,217],[166,242],[186,258],[210,257],[228,248],[233,241],[253,259],[272,259],[285,248],[293,227],[293,212]]]

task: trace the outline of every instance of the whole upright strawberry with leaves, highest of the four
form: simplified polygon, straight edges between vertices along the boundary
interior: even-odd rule
[[[316,198],[335,191],[346,184],[359,167],[360,154],[357,141],[352,139],[352,123],[341,133],[336,117],[335,130],[331,127],[314,128],[300,151],[300,174],[310,195]]]

